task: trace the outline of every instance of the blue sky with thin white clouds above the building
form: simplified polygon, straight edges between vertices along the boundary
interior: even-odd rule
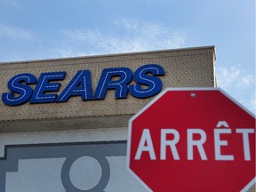
[[[255,114],[254,0],[0,0],[0,62],[207,45]]]

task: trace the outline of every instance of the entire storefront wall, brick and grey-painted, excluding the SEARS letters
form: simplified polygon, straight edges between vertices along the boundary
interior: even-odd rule
[[[93,94],[104,68],[130,68],[134,74],[148,64],[164,68],[164,76],[157,76],[163,89],[216,86],[215,51],[208,46],[2,63],[0,93],[10,92],[7,84],[12,76],[30,73],[38,79],[42,73],[65,71],[55,92],[60,95],[77,71],[86,69]],[[35,90],[35,84],[31,87]],[[127,126],[129,118],[154,97],[138,99],[128,91],[126,99],[116,99],[115,93],[108,90],[104,100],[74,96],[67,102],[28,101],[19,106],[1,100],[0,191],[146,191],[126,170]]]

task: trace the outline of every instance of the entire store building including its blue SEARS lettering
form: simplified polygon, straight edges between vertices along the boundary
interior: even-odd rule
[[[215,49],[7,62],[0,83],[0,192],[146,191],[128,120],[166,87],[215,87]]]

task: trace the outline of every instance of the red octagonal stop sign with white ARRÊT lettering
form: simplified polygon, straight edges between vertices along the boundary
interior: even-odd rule
[[[166,89],[130,119],[128,170],[149,191],[246,191],[255,117],[218,88]]]

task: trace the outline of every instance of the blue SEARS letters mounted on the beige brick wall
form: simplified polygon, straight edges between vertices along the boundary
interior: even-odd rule
[[[157,76],[164,76],[164,68],[148,64],[138,68],[134,74],[130,68],[104,68],[94,93],[89,70],[78,71],[59,92],[59,81],[64,80],[65,76],[65,71],[42,73],[38,79],[29,73],[13,76],[7,84],[10,92],[4,92],[2,100],[8,106],[22,105],[28,101],[33,104],[66,102],[73,96],[82,100],[104,100],[108,90],[112,89],[116,90],[116,99],[127,98],[128,92],[135,98],[148,98],[161,91],[163,84]],[[130,84],[132,79],[135,84]],[[36,84],[35,90],[30,84]]]

